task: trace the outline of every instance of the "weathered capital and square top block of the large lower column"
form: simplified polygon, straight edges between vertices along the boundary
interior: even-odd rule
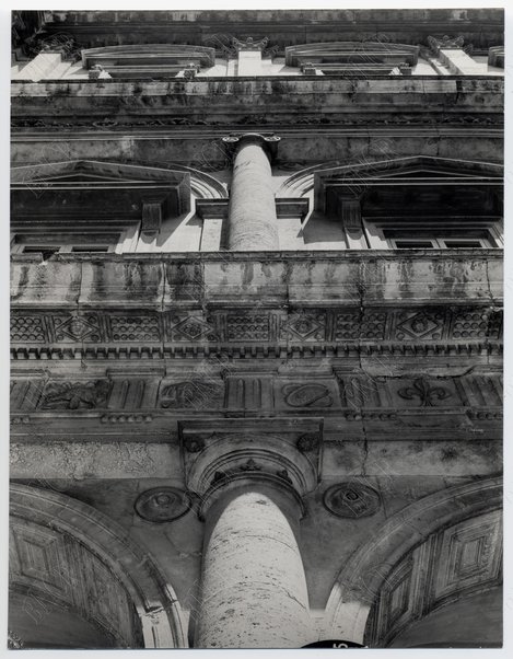
[[[180,421],[187,488],[200,499],[205,519],[211,504],[248,482],[302,497],[318,483],[322,419],[202,419]]]

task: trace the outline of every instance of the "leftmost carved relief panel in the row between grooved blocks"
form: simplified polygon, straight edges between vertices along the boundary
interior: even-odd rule
[[[40,407],[43,409],[94,409],[107,404],[110,382],[50,382],[46,385]]]

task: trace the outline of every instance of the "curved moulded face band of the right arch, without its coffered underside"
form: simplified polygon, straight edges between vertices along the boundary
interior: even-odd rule
[[[371,605],[400,558],[434,532],[501,502],[502,478],[493,477],[447,487],[393,515],[340,570],[326,605],[325,637],[362,643]]]

